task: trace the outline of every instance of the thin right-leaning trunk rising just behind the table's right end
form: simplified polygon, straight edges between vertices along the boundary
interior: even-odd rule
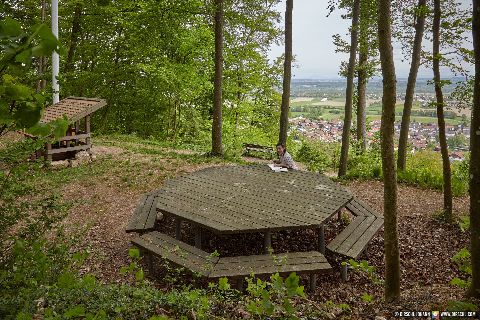
[[[340,168],[338,176],[347,174],[348,147],[350,143],[350,128],[352,126],[353,78],[355,76],[355,58],[358,46],[358,18],[360,15],[360,0],[353,2],[352,33],[350,39],[350,59],[348,61],[347,90],[345,101],[345,119],[343,121],[342,150],[340,152]]]

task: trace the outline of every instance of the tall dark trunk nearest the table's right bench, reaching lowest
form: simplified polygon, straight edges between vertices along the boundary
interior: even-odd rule
[[[379,0],[378,38],[383,75],[381,149],[385,217],[385,301],[400,298],[400,256],[397,230],[397,172],[394,154],[396,77],[391,34],[391,0]]]

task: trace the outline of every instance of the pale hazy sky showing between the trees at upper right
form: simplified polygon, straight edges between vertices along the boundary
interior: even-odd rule
[[[461,0],[461,2],[468,2]],[[293,5],[293,54],[296,62],[292,69],[294,78],[338,78],[341,61],[348,60],[348,54],[335,53],[332,35],[340,34],[350,41],[347,35],[350,20],[343,20],[341,12],[336,10],[327,15],[327,0],[295,0]],[[284,15],[285,1],[279,6]],[[282,22],[283,23],[283,22]],[[408,76],[409,63],[402,62],[400,50],[394,44],[394,58],[397,77]],[[271,48],[270,56],[276,57],[283,53],[283,46]],[[419,77],[431,77],[432,71],[421,69]]]

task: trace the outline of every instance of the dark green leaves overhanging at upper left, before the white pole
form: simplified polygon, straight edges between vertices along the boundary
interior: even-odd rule
[[[45,24],[24,31],[18,21],[7,17],[0,21],[0,47],[0,135],[29,129],[40,136],[63,136],[65,119],[37,125],[46,99],[24,83],[32,59],[60,51],[55,36]]]

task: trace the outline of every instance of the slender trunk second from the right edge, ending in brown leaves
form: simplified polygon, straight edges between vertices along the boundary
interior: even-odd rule
[[[440,17],[442,14],[440,0],[434,0],[433,10],[433,74],[435,95],[437,97],[438,137],[443,162],[443,211],[446,220],[452,220],[452,172],[448,158],[447,137],[445,135],[445,117],[443,115],[443,92],[440,78]]]

